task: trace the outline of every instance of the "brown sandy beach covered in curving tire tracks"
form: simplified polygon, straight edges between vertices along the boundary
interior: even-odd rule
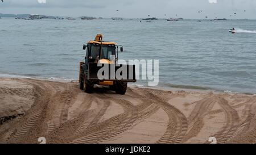
[[[0,78],[0,143],[256,143],[256,95]]]

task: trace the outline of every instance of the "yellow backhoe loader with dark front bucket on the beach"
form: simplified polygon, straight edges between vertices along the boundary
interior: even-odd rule
[[[127,82],[136,82],[135,65],[118,64],[118,48],[114,42],[103,41],[102,35],[84,44],[85,61],[80,62],[80,89],[92,93],[94,85],[110,86],[117,94],[125,94]]]

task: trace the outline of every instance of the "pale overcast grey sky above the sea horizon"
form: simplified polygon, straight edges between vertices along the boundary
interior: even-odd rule
[[[5,14],[102,16],[123,18],[249,18],[256,19],[256,0],[3,0]],[[119,10],[119,11],[116,11]],[[198,12],[202,10],[203,12]],[[246,10],[246,11],[244,11]],[[237,15],[234,15],[234,13]],[[166,16],[165,16],[166,14]]]

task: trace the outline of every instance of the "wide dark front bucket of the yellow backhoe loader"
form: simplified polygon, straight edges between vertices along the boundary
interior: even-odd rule
[[[88,79],[92,81],[136,82],[135,65],[89,64]]]

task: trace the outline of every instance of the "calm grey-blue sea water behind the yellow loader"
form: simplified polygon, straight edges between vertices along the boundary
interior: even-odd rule
[[[2,18],[0,77],[76,80],[82,44],[98,33],[123,45],[119,59],[158,59],[160,87],[256,93],[256,20]]]

